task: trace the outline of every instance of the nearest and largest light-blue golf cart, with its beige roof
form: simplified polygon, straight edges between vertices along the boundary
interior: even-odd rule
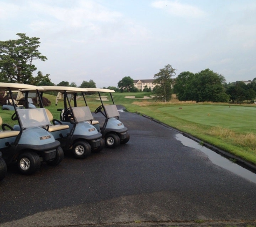
[[[0,88],[9,91],[14,103],[12,90],[14,89],[43,89],[29,84],[0,83]],[[18,125],[3,124],[0,134],[0,151],[6,164],[16,162],[20,173],[31,175],[39,170],[41,161],[49,165],[58,165],[64,158],[64,153],[59,141],[43,127],[50,125],[44,108],[17,109],[11,119],[17,120]],[[7,130],[9,127],[10,130]]]

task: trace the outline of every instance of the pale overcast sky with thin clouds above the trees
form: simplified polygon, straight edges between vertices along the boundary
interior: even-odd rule
[[[255,0],[0,0],[0,40],[17,33],[40,38],[48,60],[34,64],[56,84],[117,87],[168,64],[176,76],[256,77]]]

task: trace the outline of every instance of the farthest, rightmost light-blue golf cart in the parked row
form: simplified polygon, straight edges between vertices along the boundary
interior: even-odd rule
[[[127,132],[127,127],[124,127],[123,123],[119,120],[120,114],[116,108],[112,96],[112,93],[114,93],[115,91],[102,88],[86,88],[86,90],[86,93],[97,93],[99,95],[101,105],[96,108],[94,112],[101,112],[102,115],[105,117],[105,122],[103,123],[102,127],[100,127],[99,125],[95,125],[95,127],[100,130],[102,138],[105,140],[105,146],[109,148],[114,148],[119,144],[126,144],[130,139],[130,135]],[[101,96],[101,93],[109,93],[113,104],[103,104],[103,97]]]

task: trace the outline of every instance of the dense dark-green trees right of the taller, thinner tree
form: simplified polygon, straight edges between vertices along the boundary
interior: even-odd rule
[[[182,72],[175,79],[174,93],[179,101],[254,102],[256,78],[248,84],[243,81],[226,83],[223,75],[210,69],[195,74]]]

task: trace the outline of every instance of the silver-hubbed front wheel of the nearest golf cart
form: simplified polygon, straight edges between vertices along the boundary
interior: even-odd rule
[[[19,155],[18,169],[24,175],[31,175],[36,173],[41,165],[38,154],[34,152],[25,152]]]

